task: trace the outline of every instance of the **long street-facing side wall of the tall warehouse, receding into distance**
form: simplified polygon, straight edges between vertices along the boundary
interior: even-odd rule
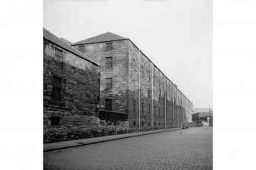
[[[128,40],[128,112],[130,128],[182,127],[192,102],[138,47]]]

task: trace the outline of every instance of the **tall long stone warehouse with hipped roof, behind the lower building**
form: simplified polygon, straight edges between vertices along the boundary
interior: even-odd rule
[[[193,103],[128,38],[110,32],[73,43],[101,68],[100,114],[133,130],[181,127]]]

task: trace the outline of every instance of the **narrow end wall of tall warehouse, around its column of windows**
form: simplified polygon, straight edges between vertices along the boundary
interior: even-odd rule
[[[112,99],[112,111],[128,114],[128,40],[112,42],[112,50],[106,43],[84,44],[85,54],[101,68],[100,107],[105,109],[105,99]],[[78,49],[78,46],[73,46]],[[105,67],[105,58],[112,57],[112,69]],[[105,78],[112,78],[112,89],[105,89]]]

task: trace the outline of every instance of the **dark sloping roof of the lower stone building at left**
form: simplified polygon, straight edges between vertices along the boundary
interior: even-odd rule
[[[67,43],[65,43],[63,40],[60,40],[60,38],[56,37],[54,34],[50,33],[49,30],[46,30],[44,28],[44,38],[47,40],[50,40],[50,42],[57,44],[60,47],[63,47],[63,49],[70,51],[70,53],[75,54],[76,56],[79,56],[83,59],[86,59],[87,61],[96,64],[99,66],[98,63],[94,62],[92,59],[90,59],[88,56],[85,54],[79,52],[79,50],[76,50],[74,47],[71,47]]]

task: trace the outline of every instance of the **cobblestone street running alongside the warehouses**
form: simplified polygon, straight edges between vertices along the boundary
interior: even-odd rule
[[[44,169],[212,169],[212,127],[45,152]]]

